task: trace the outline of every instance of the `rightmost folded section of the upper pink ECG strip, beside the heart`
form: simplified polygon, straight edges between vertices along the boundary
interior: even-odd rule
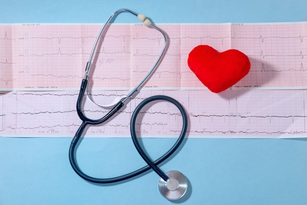
[[[232,35],[234,48],[246,53],[252,64],[248,76],[237,85],[256,79],[256,86],[306,87],[305,23],[239,25],[232,28]]]

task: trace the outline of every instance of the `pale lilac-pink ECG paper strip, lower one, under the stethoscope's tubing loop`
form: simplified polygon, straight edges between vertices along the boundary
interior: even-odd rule
[[[282,138],[305,137],[307,90],[229,90],[217,95],[208,90],[143,90],[118,115],[88,128],[86,136],[129,137],[135,107],[153,95],[167,95],[181,103],[189,117],[188,137]],[[96,97],[122,98],[126,91],[96,91]],[[1,136],[72,137],[81,121],[76,112],[77,91],[13,91],[0,95]],[[101,118],[105,110],[84,103],[85,113]],[[153,103],[141,110],[136,124],[142,137],[177,137],[182,119],[170,103]]]

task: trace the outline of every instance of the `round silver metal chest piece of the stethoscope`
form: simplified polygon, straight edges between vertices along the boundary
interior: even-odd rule
[[[178,171],[168,171],[165,173],[169,179],[159,180],[159,190],[163,197],[168,200],[178,200],[184,196],[188,189],[188,181],[183,174]]]

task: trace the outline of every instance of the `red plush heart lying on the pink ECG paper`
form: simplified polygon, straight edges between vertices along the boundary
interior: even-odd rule
[[[218,52],[206,45],[197,46],[189,53],[188,65],[214,93],[237,83],[251,68],[250,60],[243,52],[234,49]]]

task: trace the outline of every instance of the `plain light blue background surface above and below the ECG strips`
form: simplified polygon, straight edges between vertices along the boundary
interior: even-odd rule
[[[155,23],[307,21],[306,0],[0,0],[0,23],[104,23],[119,8]],[[125,21],[125,18],[121,20]],[[143,139],[157,158],[175,139]],[[190,187],[164,199],[158,176],[97,185],[72,170],[71,138],[0,137],[0,205],[306,205],[307,139],[186,139],[161,169],[179,170]],[[115,177],[145,165],[131,139],[85,138],[77,152],[84,172]]]

